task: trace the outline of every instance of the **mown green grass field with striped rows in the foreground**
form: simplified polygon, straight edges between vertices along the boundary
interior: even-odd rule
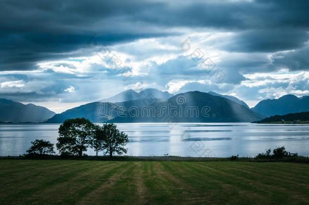
[[[0,160],[0,204],[309,204],[288,162]]]

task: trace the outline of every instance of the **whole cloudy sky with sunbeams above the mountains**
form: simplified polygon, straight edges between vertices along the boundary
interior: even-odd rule
[[[250,107],[309,95],[308,1],[0,3],[0,98],[59,113],[128,89]]]

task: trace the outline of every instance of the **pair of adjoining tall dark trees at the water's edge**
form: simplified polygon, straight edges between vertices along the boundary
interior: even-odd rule
[[[114,153],[127,153],[125,145],[129,142],[128,135],[120,132],[116,125],[98,126],[86,118],[66,119],[59,127],[57,140],[56,146],[62,155],[83,156],[83,152],[91,147],[96,155],[103,151],[110,157]]]

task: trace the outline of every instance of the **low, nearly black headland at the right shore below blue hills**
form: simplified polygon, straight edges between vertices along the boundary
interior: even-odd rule
[[[309,112],[297,112],[297,113],[290,113],[285,115],[274,115],[271,117],[264,118],[260,121],[257,121],[258,123],[263,122],[281,122],[281,120],[284,121],[309,121]]]

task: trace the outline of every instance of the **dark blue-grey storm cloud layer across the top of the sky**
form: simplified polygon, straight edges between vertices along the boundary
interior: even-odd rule
[[[307,40],[308,1],[16,1],[0,3],[0,70],[33,69],[42,60],[98,44],[175,34],[171,28],[233,30],[222,49],[274,52]],[[275,30],[274,30],[275,29]],[[233,43],[232,43],[233,42]],[[225,45],[225,46],[224,46]],[[87,54],[87,53],[86,53]],[[89,53],[88,53],[89,55]]]

